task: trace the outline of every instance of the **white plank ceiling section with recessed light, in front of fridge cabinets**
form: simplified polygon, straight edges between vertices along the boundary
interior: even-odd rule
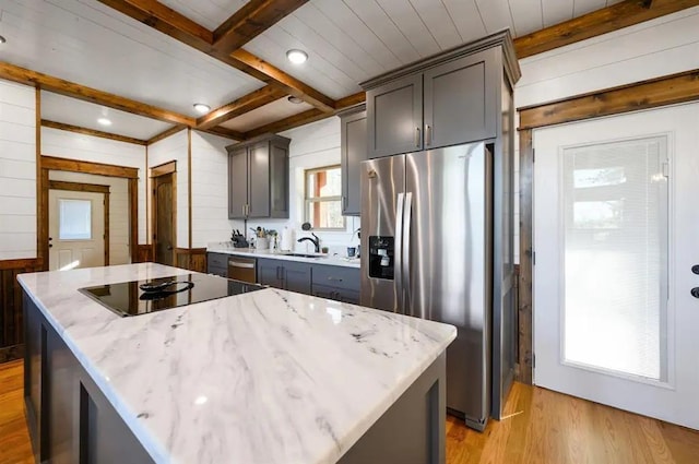
[[[525,35],[620,0],[311,0],[246,45],[333,98],[358,83],[502,28]],[[300,68],[289,48],[307,50]]]

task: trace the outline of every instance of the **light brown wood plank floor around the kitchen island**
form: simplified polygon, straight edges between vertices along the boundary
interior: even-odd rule
[[[21,361],[0,365],[0,464],[33,462],[22,381]],[[447,463],[699,464],[697,431],[536,386],[514,384],[506,414],[483,433],[449,417]]]

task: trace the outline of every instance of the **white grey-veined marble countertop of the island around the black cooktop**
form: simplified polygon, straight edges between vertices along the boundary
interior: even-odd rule
[[[133,318],[76,292],[187,273],[142,263],[19,276],[157,463],[336,462],[457,334],[272,288]]]

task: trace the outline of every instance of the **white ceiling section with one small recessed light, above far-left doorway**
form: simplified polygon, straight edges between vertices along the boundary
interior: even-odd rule
[[[99,118],[109,119],[111,126],[99,124]],[[141,140],[149,140],[173,127],[167,122],[45,91],[42,91],[42,119]]]

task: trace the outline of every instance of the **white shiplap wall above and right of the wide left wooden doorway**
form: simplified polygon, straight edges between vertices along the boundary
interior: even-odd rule
[[[145,243],[145,146],[42,128],[42,155],[139,169],[139,243]]]

